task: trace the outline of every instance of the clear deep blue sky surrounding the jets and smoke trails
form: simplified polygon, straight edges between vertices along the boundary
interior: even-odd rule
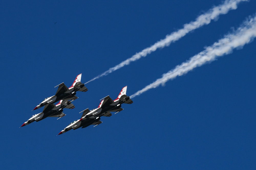
[[[65,117],[19,128],[56,85],[80,73],[86,83],[221,2],[1,1],[0,168],[255,169],[255,41],[133,98],[97,127],[56,136],[101,98],[126,85],[134,94],[239,27],[255,0],[86,84]]]

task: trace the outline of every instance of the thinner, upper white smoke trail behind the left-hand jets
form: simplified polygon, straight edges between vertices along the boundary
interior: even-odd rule
[[[95,79],[99,79],[102,76],[106,76],[109,73],[112,73],[113,71],[118,70],[126,65],[129,65],[131,62],[136,61],[136,60],[140,59],[141,57],[146,57],[148,54],[157,50],[158,48],[164,48],[166,46],[169,46],[170,43],[173,43],[173,42],[179,40],[180,38],[184,37],[189,32],[191,32],[199,27],[202,27],[203,25],[209,24],[211,22],[211,20],[217,19],[219,17],[219,15],[227,14],[229,12],[229,10],[237,9],[237,5],[243,1],[249,1],[249,0],[226,0],[222,4],[212,7],[206,13],[197,17],[195,21],[191,21],[188,24],[184,24],[184,27],[182,29],[175,31],[175,32],[171,33],[170,35],[166,35],[165,39],[156,42],[151,47],[147,47],[144,50],[140,51],[139,53],[136,53],[131,58],[126,59],[125,61],[121,62],[120,64],[116,65],[115,67],[112,67],[109,70],[105,71],[104,73],[98,75],[97,77],[94,77],[92,80],[88,81],[87,83],[89,83]]]

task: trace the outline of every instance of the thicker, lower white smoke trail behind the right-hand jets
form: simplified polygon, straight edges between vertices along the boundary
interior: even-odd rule
[[[193,56],[188,61],[176,66],[173,70],[162,75],[161,79],[157,79],[154,83],[146,86],[142,90],[137,91],[130,96],[133,98],[145,91],[156,88],[160,84],[164,85],[167,81],[186,74],[196,67],[200,67],[206,62],[215,60],[218,57],[232,53],[233,49],[241,48],[245,44],[250,43],[256,37],[256,16],[249,17],[241,27],[239,27],[233,33],[227,34],[224,38],[214,43],[212,46],[206,47],[206,49],[199,54]]]

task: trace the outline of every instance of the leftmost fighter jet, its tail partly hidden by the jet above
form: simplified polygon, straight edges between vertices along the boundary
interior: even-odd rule
[[[75,108],[75,106],[71,102],[72,101],[68,101],[68,100],[60,100],[60,102],[56,105],[46,104],[43,112],[33,115],[32,117],[30,117],[29,120],[23,123],[23,125],[20,127],[26,126],[34,121],[38,122],[40,120],[45,119],[46,117],[58,117],[58,119],[60,119],[61,117],[66,115],[62,112],[64,108],[67,108],[67,109]]]

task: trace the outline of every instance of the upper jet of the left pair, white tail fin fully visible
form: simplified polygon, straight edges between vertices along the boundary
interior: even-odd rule
[[[54,96],[46,98],[40,104],[38,104],[34,110],[45,106],[46,104],[52,104],[59,100],[74,100],[77,98],[76,91],[87,91],[88,89],[81,83],[82,74],[77,75],[74,83],[71,87],[67,87],[64,83],[59,84],[58,90]],[[56,86],[57,87],[57,86]]]

